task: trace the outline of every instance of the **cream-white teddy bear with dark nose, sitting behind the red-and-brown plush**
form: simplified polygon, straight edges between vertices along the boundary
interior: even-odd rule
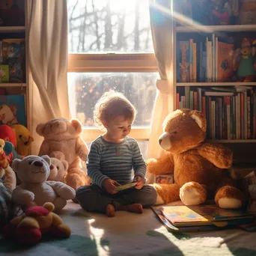
[[[13,161],[13,169],[22,181],[13,190],[12,199],[16,204],[27,208],[51,202],[58,211],[67,204],[67,200],[75,198],[75,190],[70,186],[59,181],[46,181],[50,165],[49,156],[31,155]]]

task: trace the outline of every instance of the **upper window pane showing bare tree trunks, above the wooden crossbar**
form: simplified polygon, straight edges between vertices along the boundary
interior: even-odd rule
[[[68,0],[69,52],[153,52],[148,0]]]

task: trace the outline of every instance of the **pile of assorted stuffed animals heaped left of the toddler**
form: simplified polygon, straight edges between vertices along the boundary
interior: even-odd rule
[[[56,230],[58,218],[49,213],[58,213],[67,200],[75,201],[76,189],[91,181],[85,174],[86,170],[81,168],[81,161],[86,161],[88,157],[88,147],[80,137],[82,124],[78,120],[64,118],[38,124],[36,132],[44,138],[38,156],[30,155],[29,147],[27,150],[22,147],[21,150],[18,146],[18,141],[27,141],[28,146],[33,141],[31,135],[25,137],[25,127],[17,129],[18,126],[0,126],[3,138],[0,139],[0,178],[11,191],[13,204],[19,205],[24,211],[22,216],[10,222],[8,228],[4,228],[4,236],[14,236],[19,242],[35,243],[47,228],[50,233],[58,231],[61,237],[68,237],[70,229],[60,222],[61,226]],[[17,129],[17,132],[13,132],[13,129]],[[6,145],[10,146],[7,152],[4,150]],[[13,153],[14,149],[18,149],[16,153]],[[16,180],[19,180],[18,186]],[[40,221],[41,214],[43,222]],[[49,223],[46,227],[49,220],[52,225]],[[26,241],[23,241],[24,234],[30,237]]]

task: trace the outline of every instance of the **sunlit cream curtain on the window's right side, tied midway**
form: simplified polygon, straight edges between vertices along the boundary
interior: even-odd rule
[[[171,72],[174,65],[174,47],[170,2],[170,0],[150,1],[150,25],[159,79],[156,81],[158,93],[153,109],[147,158],[157,158],[163,153],[158,144],[159,135],[162,133],[162,122],[166,115],[174,110],[173,73]],[[154,176],[147,174],[147,183],[153,183],[154,181]]]

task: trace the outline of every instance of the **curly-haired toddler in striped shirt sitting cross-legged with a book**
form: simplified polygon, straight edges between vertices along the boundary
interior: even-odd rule
[[[97,102],[94,121],[105,133],[91,143],[87,168],[92,184],[76,190],[84,210],[113,217],[117,210],[143,213],[143,207],[155,203],[156,190],[144,185],[146,164],[138,143],[127,136],[134,119],[135,108],[121,93],[107,92]],[[117,192],[131,182],[137,185]]]

